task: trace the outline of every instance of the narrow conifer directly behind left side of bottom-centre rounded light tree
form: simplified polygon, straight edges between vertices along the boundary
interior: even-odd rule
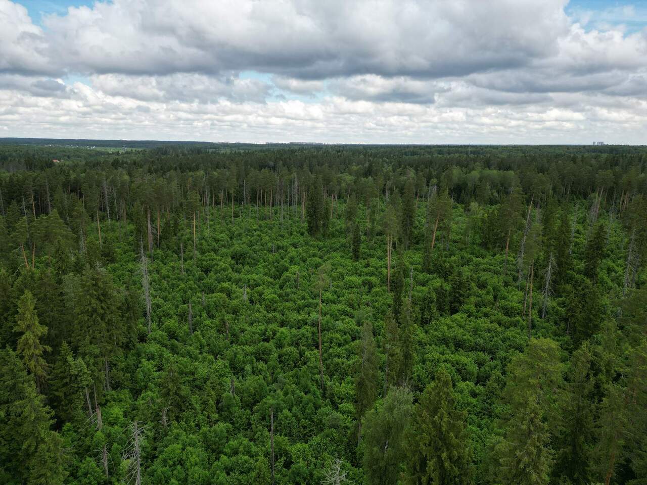
[[[357,440],[362,436],[362,417],[377,398],[377,349],[373,339],[373,325],[364,321],[358,348],[358,369],[355,374],[355,416],[358,422]]]

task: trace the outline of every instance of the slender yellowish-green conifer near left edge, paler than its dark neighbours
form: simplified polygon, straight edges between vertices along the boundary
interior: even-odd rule
[[[34,305],[36,305],[34,296],[28,290],[25,291],[18,301],[15,330],[22,334],[18,339],[17,353],[21,356],[25,367],[34,376],[36,389],[40,392],[47,376],[48,367],[43,354],[52,349],[41,343],[41,339],[47,335],[47,327],[38,323]]]

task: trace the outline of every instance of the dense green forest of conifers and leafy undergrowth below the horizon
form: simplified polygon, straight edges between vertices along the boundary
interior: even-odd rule
[[[0,483],[647,484],[646,147],[66,144],[0,144]]]

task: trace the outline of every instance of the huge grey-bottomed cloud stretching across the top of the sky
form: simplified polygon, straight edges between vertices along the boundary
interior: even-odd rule
[[[553,54],[568,28],[564,3],[115,0],[45,25],[52,52],[82,72],[443,77]]]

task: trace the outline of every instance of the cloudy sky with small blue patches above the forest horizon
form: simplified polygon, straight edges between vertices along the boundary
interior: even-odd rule
[[[0,137],[646,134],[647,0],[0,0]]]

